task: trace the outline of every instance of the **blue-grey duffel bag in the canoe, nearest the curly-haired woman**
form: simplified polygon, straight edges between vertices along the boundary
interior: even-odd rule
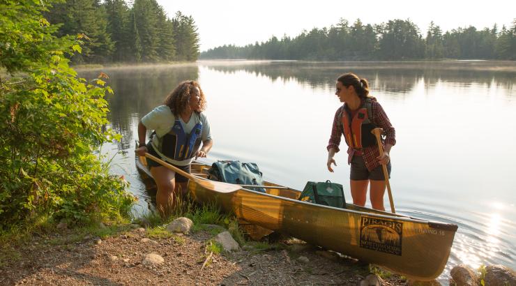
[[[239,185],[263,186],[264,179],[256,163],[241,163],[240,161],[217,161],[208,170],[208,179]],[[266,193],[264,188],[248,188]]]

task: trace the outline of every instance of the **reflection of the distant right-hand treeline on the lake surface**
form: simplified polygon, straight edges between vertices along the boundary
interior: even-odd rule
[[[335,85],[335,79],[342,73],[353,71],[365,77],[374,91],[407,93],[420,79],[425,86],[439,82],[457,82],[467,86],[471,83],[492,84],[512,90],[515,79],[513,63],[501,62],[413,62],[413,63],[310,63],[302,61],[251,61],[213,62],[201,61],[202,66],[225,74],[243,70],[256,77],[266,76],[272,82],[296,80],[314,88]],[[494,66],[495,65],[495,66]],[[496,82],[494,82],[496,79]],[[513,93],[514,95],[514,93]]]

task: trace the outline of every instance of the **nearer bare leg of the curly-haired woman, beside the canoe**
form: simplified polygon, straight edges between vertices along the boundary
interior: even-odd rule
[[[169,216],[176,204],[174,196],[174,188],[176,187],[175,174],[165,167],[152,167],[151,174],[158,186],[156,193],[156,207],[160,211],[161,216]]]

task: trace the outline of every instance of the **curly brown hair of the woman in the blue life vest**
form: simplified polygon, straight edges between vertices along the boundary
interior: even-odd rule
[[[195,80],[185,80],[180,82],[176,88],[165,98],[163,105],[167,105],[174,116],[180,116],[181,113],[188,107],[190,102],[190,96],[194,92],[194,88],[197,87],[201,93],[201,108],[195,110],[195,112],[202,112],[206,109],[206,98],[202,92],[201,86]]]

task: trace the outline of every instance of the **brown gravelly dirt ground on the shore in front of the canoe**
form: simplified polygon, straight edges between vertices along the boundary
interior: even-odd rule
[[[33,236],[16,250],[20,257],[0,266],[0,285],[358,285],[369,274],[369,266],[356,259],[289,241],[273,250],[249,243],[206,262],[214,236],[207,230],[151,240],[137,226],[105,239],[68,236],[73,233]],[[165,261],[142,263],[149,253]],[[384,285],[406,282],[390,276]]]

